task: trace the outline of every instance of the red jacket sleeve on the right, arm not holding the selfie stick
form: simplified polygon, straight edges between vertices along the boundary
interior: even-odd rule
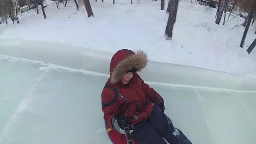
[[[144,83],[144,80],[138,75],[139,79],[141,80],[141,88],[145,93],[145,96],[155,104],[159,104],[163,98],[157,93],[153,88],[149,87],[147,83]]]

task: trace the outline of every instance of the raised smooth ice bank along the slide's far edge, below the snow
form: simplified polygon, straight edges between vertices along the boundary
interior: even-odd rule
[[[44,62],[48,67],[93,75],[109,75],[113,53],[31,40],[0,40],[0,54]],[[256,79],[198,67],[149,61],[141,76],[155,84],[219,90],[256,91]]]

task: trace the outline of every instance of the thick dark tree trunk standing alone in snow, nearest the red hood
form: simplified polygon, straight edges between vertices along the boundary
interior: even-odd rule
[[[167,25],[165,28],[166,40],[172,40],[173,27],[176,22],[179,0],[169,0],[169,3],[171,3],[171,11],[169,13],[169,18],[168,18]]]

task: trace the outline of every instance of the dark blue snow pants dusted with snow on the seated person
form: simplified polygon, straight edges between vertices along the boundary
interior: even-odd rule
[[[192,144],[157,106],[154,106],[149,118],[134,125],[131,134],[139,144],[167,144],[165,140],[170,144]]]

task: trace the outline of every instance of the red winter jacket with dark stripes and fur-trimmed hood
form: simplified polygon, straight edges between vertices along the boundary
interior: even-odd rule
[[[110,77],[101,93],[101,105],[104,120],[109,128],[112,117],[123,114],[131,119],[133,125],[151,115],[153,103],[159,104],[162,97],[135,73],[127,85],[120,82],[122,75],[130,69],[141,71],[148,62],[147,55],[138,51],[120,50],[114,54],[110,62]]]

